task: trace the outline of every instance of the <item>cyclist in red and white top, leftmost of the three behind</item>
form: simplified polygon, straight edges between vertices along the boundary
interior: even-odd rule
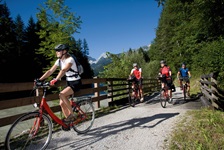
[[[137,63],[133,63],[133,69],[131,70],[131,73],[129,75],[134,76],[134,82],[136,82],[139,85],[139,90],[140,90],[140,94],[141,94],[141,99],[140,102],[144,101],[143,98],[143,91],[142,91],[142,68],[138,67]]]

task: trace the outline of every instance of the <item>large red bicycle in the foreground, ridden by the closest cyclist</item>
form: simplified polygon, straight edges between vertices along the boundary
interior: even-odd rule
[[[6,149],[46,149],[52,137],[52,120],[61,125],[63,130],[70,130],[71,127],[78,133],[86,133],[90,130],[95,119],[91,97],[79,97],[77,102],[70,101],[76,119],[70,124],[65,124],[52,112],[46,102],[46,92],[49,87],[49,82],[35,86],[34,90],[43,89],[39,109],[19,117],[12,124],[5,138]],[[37,103],[34,105],[38,106]]]

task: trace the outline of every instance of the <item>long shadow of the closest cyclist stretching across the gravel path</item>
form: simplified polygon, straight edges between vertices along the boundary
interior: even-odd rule
[[[150,117],[133,118],[133,119],[126,120],[126,121],[112,123],[110,125],[105,125],[105,126],[90,130],[87,134],[83,135],[84,136],[83,139],[80,139],[80,140],[77,139],[77,141],[75,141],[75,142],[70,142],[70,143],[62,145],[60,147],[57,147],[57,148],[53,148],[53,147],[49,147],[49,148],[57,150],[57,149],[61,149],[63,147],[67,147],[69,145],[69,148],[78,150],[78,149],[84,148],[90,144],[93,144],[95,142],[98,142],[100,140],[103,140],[104,138],[107,138],[111,135],[116,135],[119,132],[122,132],[125,130],[129,130],[132,128],[141,128],[141,129],[154,128],[161,122],[163,122],[169,118],[172,118],[176,115],[179,115],[179,113],[161,113],[161,114],[156,114],[156,115],[153,115]],[[153,125],[148,124],[149,122],[151,122],[153,120],[157,120],[157,119],[159,119],[159,120],[155,124],[153,124]],[[89,137],[89,136],[91,136],[91,137]],[[68,139],[60,138],[57,140],[58,140],[58,142],[61,142],[61,141],[67,141]]]

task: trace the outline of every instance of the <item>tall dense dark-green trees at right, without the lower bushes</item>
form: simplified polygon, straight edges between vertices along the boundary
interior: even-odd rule
[[[166,0],[150,60],[165,59],[172,72],[181,62],[193,76],[223,72],[224,2],[220,0]]]

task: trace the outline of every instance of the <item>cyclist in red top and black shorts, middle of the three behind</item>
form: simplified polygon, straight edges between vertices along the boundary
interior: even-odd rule
[[[172,101],[172,77],[171,77],[172,72],[170,67],[167,66],[165,60],[161,60],[160,65],[161,65],[161,68],[160,68],[159,76],[161,78],[161,86],[162,88],[164,88],[165,84],[167,84],[170,101]]]

